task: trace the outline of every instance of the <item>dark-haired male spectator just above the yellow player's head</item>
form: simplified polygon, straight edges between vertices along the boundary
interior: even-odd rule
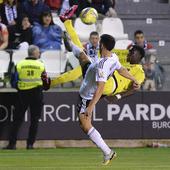
[[[152,44],[151,44],[151,43],[148,43],[148,42],[145,40],[144,33],[143,33],[143,31],[141,31],[141,30],[135,31],[135,33],[134,33],[134,40],[135,40],[135,42],[132,43],[132,44],[130,44],[130,45],[128,46],[128,49],[130,49],[130,47],[131,47],[132,45],[134,45],[134,44],[135,44],[135,45],[139,45],[140,47],[144,48],[144,50],[149,50],[149,49],[152,49],[152,48],[153,48]]]

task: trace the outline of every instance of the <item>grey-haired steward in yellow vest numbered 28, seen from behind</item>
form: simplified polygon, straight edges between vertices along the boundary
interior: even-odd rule
[[[17,63],[16,71],[12,75],[12,87],[15,87],[18,92],[9,144],[5,149],[16,149],[17,134],[28,108],[30,109],[31,123],[26,148],[33,149],[38,120],[43,107],[43,89],[48,90],[50,87],[50,79],[47,78],[44,64],[39,60],[39,57],[39,48],[35,45],[29,46],[28,57]]]

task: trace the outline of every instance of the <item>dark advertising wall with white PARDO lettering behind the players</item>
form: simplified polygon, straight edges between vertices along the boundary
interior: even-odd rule
[[[44,93],[38,140],[86,140],[77,113],[78,92]],[[0,93],[0,139],[8,138],[16,93]],[[94,126],[105,139],[170,139],[170,92],[140,92],[114,104],[101,100],[93,114]],[[19,133],[25,140],[29,114]]]

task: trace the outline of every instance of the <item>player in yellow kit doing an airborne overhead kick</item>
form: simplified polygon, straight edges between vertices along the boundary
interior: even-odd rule
[[[70,39],[72,42],[77,45],[79,48],[83,50],[83,45],[80,42],[80,39],[72,25],[72,21],[69,19],[75,12],[76,6],[73,6],[67,15],[64,14],[63,16],[60,16],[60,19],[63,21],[65,28],[67,30],[67,33],[70,36]],[[145,74],[142,69],[142,66],[140,65],[141,59],[144,57],[145,52],[144,50],[139,46],[132,46],[131,49],[129,49],[129,53],[127,55],[127,62],[128,64],[127,69],[129,72],[136,78],[138,83],[141,85],[145,79]],[[56,86],[58,84],[67,83],[70,81],[74,81],[77,78],[79,78],[82,75],[81,67],[78,66],[74,68],[71,71],[68,71],[55,79],[51,80],[51,87]],[[139,87],[138,87],[139,88]],[[120,99],[122,97],[131,95],[134,91],[138,90],[135,87],[132,86],[132,83],[130,80],[124,78],[123,76],[119,75],[116,71],[113,74],[113,77],[109,78],[108,81],[105,84],[103,95],[109,96],[106,97],[110,102],[116,97],[116,99]]]

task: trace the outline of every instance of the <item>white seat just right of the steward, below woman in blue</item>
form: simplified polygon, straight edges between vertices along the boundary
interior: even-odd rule
[[[67,57],[63,51],[51,50],[41,54],[41,60],[45,64],[45,68],[49,77],[55,77],[65,71]]]

